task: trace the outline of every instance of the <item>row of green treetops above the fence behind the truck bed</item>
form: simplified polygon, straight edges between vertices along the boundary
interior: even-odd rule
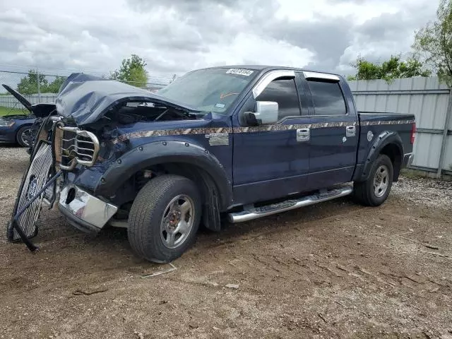
[[[413,76],[430,76],[431,71],[424,68],[424,65],[414,55],[406,61],[402,61],[400,56],[393,56],[383,63],[372,63],[362,57],[358,57],[355,64],[357,70],[355,76],[348,76],[347,80],[374,80],[384,79],[388,82],[396,78],[411,78]]]

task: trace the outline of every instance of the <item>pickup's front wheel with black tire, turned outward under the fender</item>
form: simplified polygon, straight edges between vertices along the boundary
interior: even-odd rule
[[[184,240],[182,240],[182,233],[180,233],[178,238],[179,233],[174,234],[174,242],[179,240],[182,242],[177,246],[174,245],[174,248],[169,248],[168,246],[170,245],[167,243],[171,242],[168,238],[169,233],[166,230],[162,231],[161,227],[163,227],[163,219],[167,218],[168,221],[165,222],[165,225],[175,227],[176,230],[179,228],[177,225],[182,221],[178,219],[182,217],[182,205],[179,206],[179,200],[177,200],[174,202],[176,207],[169,208],[169,204],[179,196],[183,197],[180,201],[184,201],[184,198],[186,198],[186,201],[193,204],[191,210],[186,212],[183,217],[189,216],[188,220],[191,227],[188,232],[185,232]],[[127,234],[133,251],[138,256],[156,263],[169,263],[179,258],[194,243],[201,220],[201,206],[201,195],[194,182],[190,179],[169,174],[150,180],[138,192],[129,214],[129,230]],[[177,215],[178,208],[179,215]],[[165,213],[167,213],[166,217]],[[176,213],[175,216],[174,213]],[[175,219],[170,218],[171,215]],[[193,220],[190,218],[193,218]],[[172,222],[178,223],[176,225]],[[191,222],[193,223],[191,224]]]

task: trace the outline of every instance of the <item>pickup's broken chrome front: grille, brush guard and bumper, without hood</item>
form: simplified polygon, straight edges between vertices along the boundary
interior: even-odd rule
[[[72,225],[98,232],[117,211],[74,184],[65,184],[66,173],[77,165],[92,167],[100,144],[97,136],[75,126],[65,126],[61,117],[49,117],[42,124],[32,152],[30,167],[23,177],[13,218],[8,224],[8,240],[23,240],[30,250],[30,238],[37,235],[37,220],[42,206],[55,203]]]

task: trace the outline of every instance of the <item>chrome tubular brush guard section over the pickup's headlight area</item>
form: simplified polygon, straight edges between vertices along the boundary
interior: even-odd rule
[[[56,138],[61,149],[60,168],[71,170],[77,164],[93,166],[99,152],[99,141],[97,137],[88,131],[77,127],[59,126],[62,133],[56,133]],[[58,157],[57,157],[58,158]]]

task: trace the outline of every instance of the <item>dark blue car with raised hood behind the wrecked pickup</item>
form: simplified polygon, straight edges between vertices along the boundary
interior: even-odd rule
[[[47,117],[54,105],[45,103],[32,105],[17,90],[8,85],[3,85],[3,87],[16,97],[28,112],[24,111],[24,114],[6,114],[0,117],[0,142],[18,143],[31,150],[42,117]],[[15,111],[16,109],[14,109]]]

